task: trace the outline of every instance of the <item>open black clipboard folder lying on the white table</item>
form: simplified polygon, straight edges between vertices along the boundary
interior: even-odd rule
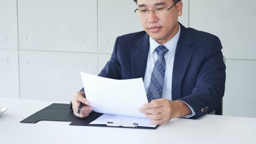
[[[111,125],[111,124],[90,124],[90,122],[99,118],[102,113],[91,112],[89,116],[85,118],[78,118],[73,114],[73,110],[70,109],[70,104],[53,103],[49,106],[34,113],[28,118],[20,121],[21,123],[35,124],[38,121],[66,121],[71,122],[69,125],[82,125],[82,126],[94,126],[94,127],[121,127],[121,128],[144,128],[144,129],[156,129],[156,127],[140,127],[133,123],[134,127],[127,127],[126,125]]]

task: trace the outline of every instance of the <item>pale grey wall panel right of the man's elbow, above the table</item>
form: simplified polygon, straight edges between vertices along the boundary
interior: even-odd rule
[[[223,114],[256,118],[256,61],[227,59]]]

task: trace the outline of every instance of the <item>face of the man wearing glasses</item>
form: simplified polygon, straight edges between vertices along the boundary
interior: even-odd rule
[[[169,8],[174,4],[172,0],[138,0],[138,9],[154,10],[155,8]],[[183,4],[179,1],[166,13],[139,14],[141,25],[145,32],[159,44],[165,44],[178,32],[178,16],[182,14]]]

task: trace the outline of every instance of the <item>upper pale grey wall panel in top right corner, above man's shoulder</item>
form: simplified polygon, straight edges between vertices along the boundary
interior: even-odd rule
[[[217,35],[227,59],[256,60],[256,1],[190,1],[189,24]]]

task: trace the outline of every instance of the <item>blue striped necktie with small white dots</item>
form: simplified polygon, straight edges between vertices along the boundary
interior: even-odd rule
[[[163,57],[168,49],[160,45],[156,47],[158,58],[154,64],[151,75],[150,86],[148,87],[147,98],[148,103],[151,100],[162,98],[163,94],[163,81],[165,79],[165,58]]]

